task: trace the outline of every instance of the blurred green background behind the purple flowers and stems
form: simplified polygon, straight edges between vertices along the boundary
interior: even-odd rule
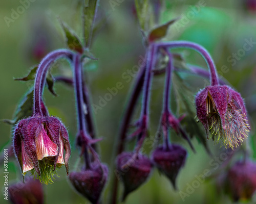
[[[30,1],[29,1],[30,2]],[[93,54],[99,58],[97,62],[90,63],[85,67],[86,79],[92,93],[93,104],[98,105],[100,96],[108,93],[108,88],[121,82],[124,88],[113,96],[113,99],[98,110],[94,115],[98,137],[103,140],[99,143],[101,159],[111,166],[113,148],[118,137],[120,121],[125,109],[127,97],[131,90],[132,82],[126,82],[122,74],[128,69],[138,65],[140,56],[144,55],[144,46],[141,33],[134,14],[133,1],[124,0],[115,7],[111,3],[118,1],[100,1],[100,13],[108,18],[101,32],[96,36],[92,46]],[[121,2],[121,1],[119,1]],[[197,42],[208,49],[215,60],[220,76],[228,80],[230,85],[238,90],[245,99],[250,117],[252,131],[249,145],[251,155],[255,159],[255,121],[256,121],[256,43],[252,43],[250,50],[236,59],[236,54],[243,49],[246,40],[256,42],[256,6],[246,0],[210,1],[205,0],[204,7],[200,11],[193,10],[193,5],[199,5],[198,1],[163,1],[160,22],[164,23],[172,18],[181,16],[181,20],[173,25],[165,40],[189,40]],[[255,4],[255,3],[254,3]],[[61,32],[58,17],[67,22],[78,36],[81,33],[80,7],[77,1],[31,1],[24,12],[12,22],[6,23],[6,16],[11,18],[12,12],[17,11],[22,3],[19,1],[2,0],[0,2],[0,118],[11,119],[24,93],[33,82],[17,82],[13,78],[26,75],[29,67],[39,62],[45,54],[51,50],[65,47],[65,38]],[[179,26],[178,26],[179,25]],[[81,35],[80,35],[81,36]],[[38,48],[39,47],[39,48]],[[200,55],[191,50],[182,50],[187,62],[206,68],[206,64]],[[231,57],[230,57],[231,56]],[[58,63],[53,73],[65,70],[66,75],[71,75],[71,69],[65,63]],[[225,67],[225,69],[223,69]],[[195,92],[208,81],[202,78],[186,76],[186,82]],[[162,88],[164,76],[156,77],[152,89],[151,103],[151,134],[157,130],[161,106]],[[72,88],[55,84],[58,97],[54,97],[45,90],[45,101],[50,114],[62,119],[69,129],[72,144],[70,169],[75,169],[79,160],[78,151],[75,148],[76,136],[76,112],[74,93]],[[3,122],[0,123],[0,149],[11,143],[12,127]],[[232,203],[228,196],[218,194],[213,181],[205,181],[182,200],[179,192],[186,192],[187,185],[195,181],[195,176],[202,174],[205,169],[213,170],[210,165],[212,159],[220,154],[220,145],[214,145],[207,141],[213,152],[213,157],[207,155],[204,147],[193,139],[197,149],[194,154],[188,145],[180,140],[175,134],[172,140],[182,144],[188,150],[188,159],[185,167],[178,176],[178,191],[174,191],[169,181],[161,176],[155,169],[151,179],[132,193],[126,203]],[[150,152],[152,149],[148,149]],[[218,169],[217,169],[218,170]],[[213,170],[214,171],[214,170]],[[3,165],[0,166],[3,172]],[[9,183],[20,180],[20,170],[15,158],[9,158]],[[110,169],[113,173],[113,169]],[[46,203],[89,203],[82,196],[73,191],[70,186],[65,169],[61,169],[53,184],[44,186]],[[108,184],[110,185],[111,182]],[[0,186],[3,189],[4,179],[0,173]],[[110,193],[109,185],[103,195],[103,203],[108,200]],[[119,192],[121,192],[120,187]],[[0,193],[0,202],[7,203]],[[255,203],[251,201],[251,203]],[[250,203],[250,202],[249,202]]]

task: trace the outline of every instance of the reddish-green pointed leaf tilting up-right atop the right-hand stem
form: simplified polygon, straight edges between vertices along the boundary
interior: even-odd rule
[[[169,26],[172,25],[178,19],[179,18],[175,18],[175,19],[170,20],[170,21],[166,22],[165,24],[162,24],[162,25],[158,26],[157,28],[153,29],[150,32],[150,34],[148,35],[148,41],[154,42],[156,40],[159,40],[159,39],[165,37]]]

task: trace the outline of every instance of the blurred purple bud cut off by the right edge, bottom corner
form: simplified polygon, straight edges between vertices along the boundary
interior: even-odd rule
[[[239,161],[227,173],[226,190],[234,201],[248,200],[256,192],[256,163]]]

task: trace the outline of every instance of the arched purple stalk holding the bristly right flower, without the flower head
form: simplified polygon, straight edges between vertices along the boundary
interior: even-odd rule
[[[210,70],[211,86],[219,85],[218,74],[216,71],[214,60],[212,60],[208,51],[201,45],[194,43],[194,42],[189,42],[189,41],[158,42],[155,44],[156,44],[156,46],[158,46],[158,48],[160,48],[160,47],[164,47],[164,48],[185,47],[185,48],[190,48],[190,49],[196,50],[199,54],[201,54],[203,56],[203,58],[205,59],[207,65],[208,65],[208,68]]]

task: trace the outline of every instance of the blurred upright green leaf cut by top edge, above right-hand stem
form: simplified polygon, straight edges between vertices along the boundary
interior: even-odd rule
[[[146,19],[148,17],[149,1],[148,0],[135,0],[136,13],[138,16],[140,28],[144,31],[146,25]]]

